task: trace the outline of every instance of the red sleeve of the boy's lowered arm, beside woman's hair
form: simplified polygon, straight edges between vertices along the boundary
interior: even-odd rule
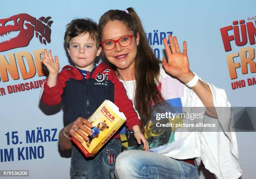
[[[132,131],[132,127],[135,125],[141,126],[138,115],[133,108],[132,101],[126,95],[126,90],[123,83],[119,81],[117,74],[110,70],[108,79],[114,84],[114,103],[118,106],[119,111],[123,112],[126,117],[125,126]]]

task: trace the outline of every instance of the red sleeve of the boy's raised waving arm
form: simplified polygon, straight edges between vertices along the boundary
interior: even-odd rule
[[[41,100],[47,106],[54,106],[61,102],[61,95],[66,86],[66,81],[70,78],[81,80],[83,77],[81,73],[73,66],[64,66],[58,75],[57,83],[53,87],[49,87],[46,82],[42,86],[43,94]]]

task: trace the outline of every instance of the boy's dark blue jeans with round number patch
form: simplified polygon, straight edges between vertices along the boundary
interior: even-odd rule
[[[120,152],[120,139],[111,139],[93,158],[73,147],[71,179],[115,179],[115,160]]]

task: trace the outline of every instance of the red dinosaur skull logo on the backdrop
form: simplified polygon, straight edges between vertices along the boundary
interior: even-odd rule
[[[0,19],[0,52],[11,50],[13,48],[26,47],[36,32],[36,38],[39,38],[40,43],[51,42],[51,17],[41,17],[36,19],[28,14],[13,15],[10,18]],[[10,25],[11,24],[13,25]],[[1,40],[1,37],[9,35],[12,32],[19,31],[19,34],[14,37]],[[6,39],[6,37],[4,37]]]

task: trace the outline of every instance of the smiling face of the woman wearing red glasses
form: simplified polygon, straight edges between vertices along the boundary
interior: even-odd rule
[[[125,35],[133,35],[133,32],[129,30],[124,23],[118,20],[113,20],[109,21],[102,29],[101,40],[118,40]],[[113,50],[104,49],[105,56],[118,70],[133,70],[138,43],[139,35],[137,33],[137,38],[134,36],[131,45],[127,47],[122,47],[119,43],[115,43],[115,48]]]

